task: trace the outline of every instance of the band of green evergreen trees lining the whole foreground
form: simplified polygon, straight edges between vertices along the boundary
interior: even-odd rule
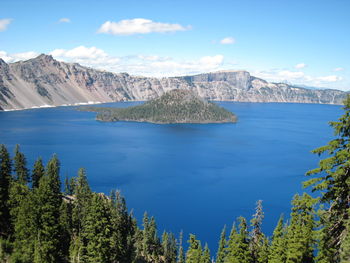
[[[289,217],[280,217],[271,237],[262,231],[258,201],[248,221],[223,228],[218,250],[210,252],[194,234],[157,233],[154,217],[142,226],[118,191],[91,190],[84,169],[66,178],[60,162],[41,158],[32,170],[19,146],[11,157],[0,145],[0,260],[21,263],[349,263],[350,262],[350,97],[345,113],[331,122],[335,139],[315,149],[326,153],[304,183],[319,192],[295,195]],[[205,220],[203,218],[203,220]],[[210,222],[208,222],[210,227]],[[219,235],[218,235],[219,236]],[[186,238],[187,239],[187,238]]]

